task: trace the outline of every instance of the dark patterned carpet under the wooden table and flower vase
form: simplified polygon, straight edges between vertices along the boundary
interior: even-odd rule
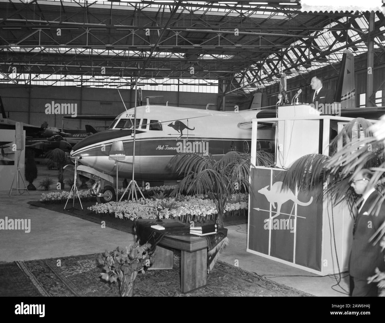
[[[116,283],[99,277],[98,257],[89,254],[0,264],[0,296],[119,296]],[[180,253],[174,252],[173,269],[139,273],[134,296],[312,296],[222,261],[207,276],[206,286],[183,294],[180,260]]]

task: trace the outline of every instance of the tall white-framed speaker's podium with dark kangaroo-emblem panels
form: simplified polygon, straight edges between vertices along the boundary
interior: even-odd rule
[[[258,122],[277,122],[276,167],[251,167],[247,251],[311,273],[346,271],[352,243],[347,206],[332,205],[313,192],[281,191],[294,161],[307,154],[329,154],[330,129],[352,118],[320,115],[310,105],[283,106],[277,118],[253,119],[251,162],[255,165]],[[324,183],[324,186],[327,185]]]

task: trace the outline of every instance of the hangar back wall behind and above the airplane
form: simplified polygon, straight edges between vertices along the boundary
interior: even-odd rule
[[[133,106],[134,90],[120,90],[127,109]],[[62,126],[62,115],[45,114],[46,104],[66,103],[76,104],[77,114],[120,114],[124,105],[116,89],[100,89],[91,87],[64,86],[32,86],[17,87],[16,85],[1,85],[0,95],[4,109],[9,119],[22,121],[34,126],[40,126],[47,121],[51,127]],[[213,103],[210,110],[217,109],[218,94],[195,92],[165,92],[142,91],[143,103],[146,96],[162,95],[150,99],[150,104],[161,104],[206,109],[208,103]],[[226,107],[227,109],[227,107]],[[109,126],[110,121],[64,119],[65,128],[84,129],[86,124],[93,127]],[[103,130],[103,129],[98,129]]]

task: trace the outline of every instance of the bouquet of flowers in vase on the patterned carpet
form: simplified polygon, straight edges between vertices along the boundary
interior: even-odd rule
[[[99,263],[104,265],[105,273],[102,279],[112,283],[118,281],[121,296],[133,296],[134,280],[139,271],[145,273],[144,268],[151,266],[151,244],[139,246],[137,243],[126,248],[117,247],[115,250],[100,254]]]

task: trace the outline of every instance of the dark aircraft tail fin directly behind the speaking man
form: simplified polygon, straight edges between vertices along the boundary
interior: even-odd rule
[[[356,108],[354,55],[347,49],[343,52],[334,102],[341,102],[341,109]]]

